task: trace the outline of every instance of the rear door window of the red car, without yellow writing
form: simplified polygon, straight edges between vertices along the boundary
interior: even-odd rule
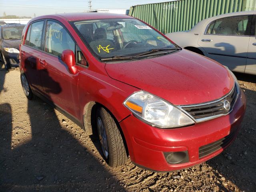
[[[44,21],[38,21],[31,24],[29,41],[27,39],[28,35],[26,38],[27,45],[42,50],[43,27],[44,27]]]

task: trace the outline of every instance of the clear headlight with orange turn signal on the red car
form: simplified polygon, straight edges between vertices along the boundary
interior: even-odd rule
[[[195,122],[172,104],[144,91],[128,97],[124,105],[133,114],[159,128],[181,127]]]

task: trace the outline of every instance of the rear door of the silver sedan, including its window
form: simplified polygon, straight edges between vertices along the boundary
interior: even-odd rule
[[[252,15],[214,20],[200,35],[198,45],[204,48],[209,58],[230,70],[244,72],[251,21]]]

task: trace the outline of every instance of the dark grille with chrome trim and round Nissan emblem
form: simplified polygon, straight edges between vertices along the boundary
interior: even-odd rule
[[[185,110],[188,114],[190,114],[194,119],[208,118],[211,116],[227,114],[232,110],[234,106],[237,93],[237,88],[236,86],[234,86],[231,92],[220,100],[193,106],[181,106],[181,108]],[[224,102],[226,102],[226,100],[228,100],[228,102],[230,103],[229,109],[224,108]]]

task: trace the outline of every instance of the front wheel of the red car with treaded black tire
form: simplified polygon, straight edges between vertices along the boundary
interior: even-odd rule
[[[128,160],[124,140],[114,118],[103,107],[96,112],[96,126],[103,157],[108,165],[124,165]]]

